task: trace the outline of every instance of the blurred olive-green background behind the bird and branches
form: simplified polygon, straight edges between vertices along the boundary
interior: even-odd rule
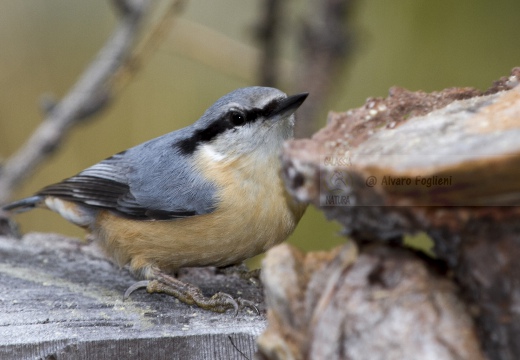
[[[76,127],[60,151],[14,197],[71,176],[120,150],[186,126],[221,95],[256,84],[253,29],[261,1],[191,0],[158,50],[110,108]],[[296,37],[307,1],[287,4],[284,60],[297,69]],[[327,108],[346,111],[391,86],[433,91],[485,89],[520,65],[518,0],[366,0],[352,14],[354,53]],[[61,98],[116,22],[105,0],[0,3],[0,157],[13,153],[42,119],[44,94]],[[290,79],[282,90],[291,92]],[[297,89],[304,90],[304,89]],[[326,111],[319,116],[320,126]],[[46,211],[17,217],[24,232],[82,231]],[[310,208],[290,242],[303,249],[340,243],[340,227]]]

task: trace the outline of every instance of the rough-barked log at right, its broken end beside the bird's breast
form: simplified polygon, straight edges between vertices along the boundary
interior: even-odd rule
[[[515,68],[487,91],[392,88],[282,155],[288,191],[361,252],[428,234],[489,359],[520,358],[519,82]]]

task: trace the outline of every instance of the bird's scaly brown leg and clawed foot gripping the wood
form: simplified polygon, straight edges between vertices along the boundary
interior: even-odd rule
[[[124,299],[127,299],[132,292],[140,288],[146,288],[146,291],[150,294],[168,294],[185,304],[195,304],[205,310],[222,313],[229,309],[233,309],[236,315],[239,309],[250,307],[258,313],[258,309],[251,301],[241,298],[234,299],[231,295],[223,292],[218,292],[208,298],[202,294],[202,291],[198,287],[189,283],[184,283],[173,276],[160,271],[155,272],[155,279],[139,281],[130,286],[125,292]]]

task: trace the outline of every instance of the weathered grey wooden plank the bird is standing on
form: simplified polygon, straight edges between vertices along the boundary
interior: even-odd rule
[[[94,244],[53,234],[0,237],[0,359],[245,359],[265,328],[260,287],[214,269],[180,275],[207,295],[259,303],[217,314],[144,290]]]

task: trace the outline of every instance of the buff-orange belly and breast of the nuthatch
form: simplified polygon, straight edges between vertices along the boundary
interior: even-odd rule
[[[234,191],[222,194],[226,200],[210,214],[172,221],[122,219],[102,211],[95,232],[120,265],[129,263],[146,275],[153,266],[168,271],[239,263],[284,241],[305,210],[278,186],[242,184]]]

